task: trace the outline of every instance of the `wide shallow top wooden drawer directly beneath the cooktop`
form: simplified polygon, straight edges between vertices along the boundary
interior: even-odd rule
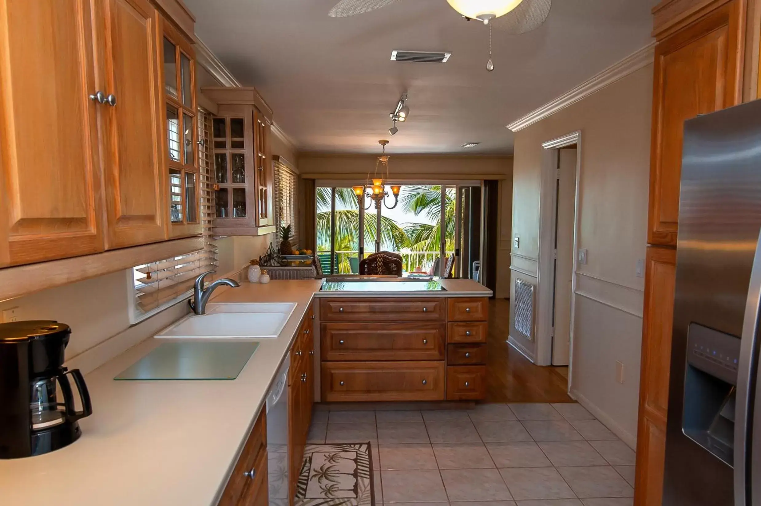
[[[393,322],[444,320],[444,298],[323,298],[323,322]]]

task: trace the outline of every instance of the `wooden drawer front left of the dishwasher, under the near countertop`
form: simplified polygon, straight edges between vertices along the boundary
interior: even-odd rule
[[[256,420],[248,440],[244,445],[243,451],[240,452],[233,473],[228,480],[228,485],[224,487],[222,498],[219,500],[219,506],[235,506],[236,504],[253,504],[243,502],[247,488],[256,485],[258,478],[267,474],[267,423],[265,409]],[[261,462],[264,463],[262,466]],[[253,480],[246,476],[251,469],[256,470]],[[265,488],[266,489],[266,488]]]

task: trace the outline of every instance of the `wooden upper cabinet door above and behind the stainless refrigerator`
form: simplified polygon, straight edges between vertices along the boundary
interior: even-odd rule
[[[684,121],[740,103],[744,18],[742,0],[724,2],[655,48],[651,244],[677,244]]]

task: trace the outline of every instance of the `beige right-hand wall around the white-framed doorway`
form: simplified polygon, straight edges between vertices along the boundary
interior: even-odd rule
[[[648,65],[515,135],[512,232],[521,243],[512,253],[523,272],[512,277],[536,283],[542,143],[581,131],[578,248],[588,254],[576,275],[572,393],[630,444],[637,429],[644,279],[635,269],[645,258],[652,75]],[[623,384],[616,382],[616,361],[624,364]]]

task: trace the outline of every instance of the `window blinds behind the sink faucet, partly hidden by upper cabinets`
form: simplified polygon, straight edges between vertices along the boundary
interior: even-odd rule
[[[212,241],[215,207],[211,132],[212,115],[209,111],[199,108],[199,210],[204,247],[187,255],[135,266],[132,269],[135,290],[132,297],[131,323],[145,320],[183,301],[193,293],[196,277],[217,266],[217,247]],[[210,276],[209,279],[211,278]]]

